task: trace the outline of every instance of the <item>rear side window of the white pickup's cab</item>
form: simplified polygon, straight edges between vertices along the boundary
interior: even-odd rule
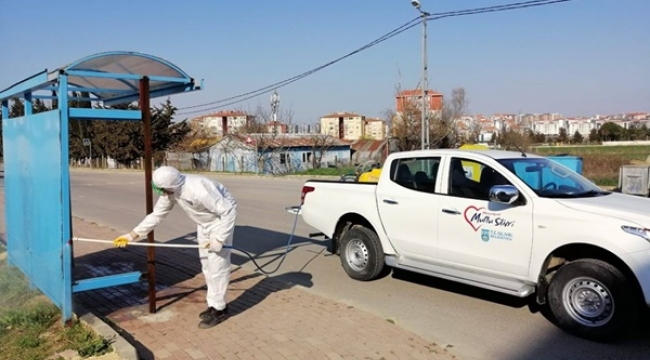
[[[439,166],[439,157],[397,159],[391,164],[390,179],[405,188],[433,194]]]

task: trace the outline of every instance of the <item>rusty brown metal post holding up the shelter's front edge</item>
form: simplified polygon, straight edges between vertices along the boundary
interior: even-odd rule
[[[152,145],[151,145],[151,108],[149,106],[149,78],[140,79],[140,111],[142,111],[142,130],[144,132],[144,179],[147,214],[153,212]],[[154,242],[154,232],[147,234],[147,242]],[[156,249],[147,249],[147,275],[149,277],[149,313],[156,312]]]

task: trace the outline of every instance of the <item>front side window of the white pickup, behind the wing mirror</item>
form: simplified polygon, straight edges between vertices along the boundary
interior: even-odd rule
[[[449,174],[449,195],[489,200],[490,188],[511,185],[503,175],[478,161],[453,158]]]

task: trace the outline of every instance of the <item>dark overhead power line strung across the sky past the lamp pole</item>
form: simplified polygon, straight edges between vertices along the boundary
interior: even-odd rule
[[[466,16],[466,15],[476,15],[476,14],[491,13],[491,12],[517,10],[517,9],[524,9],[524,8],[529,8],[529,7],[552,5],[552,4],[570,2],[570,1],[574,1],[574,0],[531,0],[531,1],[522,1],[522,2],[516,2],[516,3],[503,4],[503,5],[492,5],[492,6],[486,6],[486,7],[481,7],[481,8],[449,11],[449,12],[444,12],[444,13],[429,14],[427,16],[427,21],[435,21],[435,20],[440,20],[440,19],[449,18],[449,17],[457,17],[457,16]],[[356,49],[356,50],[354,50],[354,51],[352,51],[352,52],[350,52],[350,53],[348,53],[346,55],[343,55],[343,56],[341,56],[339,58],[336,58],[336,59],[334,59],[332,61],[329,61],[329,62],[327,62],[327,63],[325,63],[325,64],[323,64],[321,66],[318,66],[318,67],[316,67],[314,69],[305,71],[305,72],[303,72],[303,73],[301,73],[299,75],[290,77],[288,79],[285,79],[285,80],[282,80],[282,81],[279,81],[279,82],[276,82],[276,83],[273,83],[273,84],[267,85],[265,87],[262,87],[262,88],[259,88],[259,89],[253,90],[253,91],[249,91],[249,92],[246,92],[246,93],[243,93],[243,94],[231,96],[231,97],[216,100],[216,101],[211,101],[211,102],[204,103],[204,104],[198,104],[198,105],[182,107],[182,108],[179,108],[179,110],[195,109],[195,108],[199,108],[199,107],[202,108],[202,107],[206,107],[206,106],[210,106],[210,105],[215,105],[215,106],[211,106],[211,107],[207,107],[207,108],[203,108],[203,109],[198,109],[198,110],[181,111],[177,115],[188,115],[188,114],[194,114],[194,113],[199,113],[199,112],[210,111],[210,110],[214,110],[214,109],[218,109],[218,108],[222,108],[222,107],[227,107],[227,106],[234,105],[234,104],[237,104],[237,103],[240,103],[240,102],[244,102],[246,100],[252,99],[252,98],[257,97],[257,96],[260,96],[260,95],[262,95],[264,93],[268,93],[268,92],[270,92],[272,90],[284,87],[286,85],[289,85],[289,84],[291,84],[293,82],[296,82],[296,81],[298,81],[300,79],[303,79],[303,78],[305,78],[305,77],[307,77],[309,75],[312,75],[312,74],[314,74],[314,73],[316,73],[316,72],[318,72],[320,70],[323,70],[323,69],[325,69],[325,68],[327,68],[329,66],[332,66],[332,65],[334,65],[334,64],[336,64],[336,63],[338,63],[338,62],[340,62],[340,61],[342,61],[342,60],[344,60],[344,59],[346,59],[346,58],[348,58],[348,57],[350,57],[352,55],[355,55],[355,54],[358,54],[358,53],[360,53],[360,52],[362,52],[364,50],[367,50],[367,49],[369,49],[369,48],[371,48],[371,47],[373,47],[373,46],[375,46],[375,45],[377,45],[377,44],[379,44],[381,42],[384,42],[384,41],[386,41],[386,40],[388,40],[390,38],[393,38],[393,37],[403,33],[404,31],[407,31],[407,30],[417,26],[417,25],[419,25],[418,20],[420,20],[419,16],[412,19],[412,20],[410,20],[409,22],[403,24],[402,26],[400,26],[400,27],[398,27],[398,28],[396,28],[396,29],[382,35],[381,37],[377,38],[376,40],[371,41],[371,42],[363,45],[362,47],[360,47],[360,48],[358,48],[358,49]]]

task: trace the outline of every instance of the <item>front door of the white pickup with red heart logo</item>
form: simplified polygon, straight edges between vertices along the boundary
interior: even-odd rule
[[[533,240],[533,205],[490,202],[494,185],[511,185],[484,163],[451,157],[446,196],[438,212],[438,249],[443,262],[492,272],[528,275]]]

